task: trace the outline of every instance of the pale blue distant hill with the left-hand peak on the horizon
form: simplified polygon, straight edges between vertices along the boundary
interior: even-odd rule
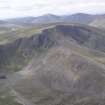
[[[33,25],[33,24],[46,24],[46,23],[58,22],[59,18],[60,17],[56,15],[45,14],[39,17],[23,17],[23,18],[9,19],[7,21],[13,24]]]

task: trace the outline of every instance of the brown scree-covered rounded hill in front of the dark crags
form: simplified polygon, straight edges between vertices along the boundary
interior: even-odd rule
[[[66,47],[56,47],[12,77],[13,87],[36,105],[105,104],[105,69]],[[16,80],[16,81],[15,81]]]

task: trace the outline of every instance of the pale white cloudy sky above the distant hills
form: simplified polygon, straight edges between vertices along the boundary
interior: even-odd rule
[[[67,15],[74,13],[105,13],[105,0],[0,0],[0,19]]]

